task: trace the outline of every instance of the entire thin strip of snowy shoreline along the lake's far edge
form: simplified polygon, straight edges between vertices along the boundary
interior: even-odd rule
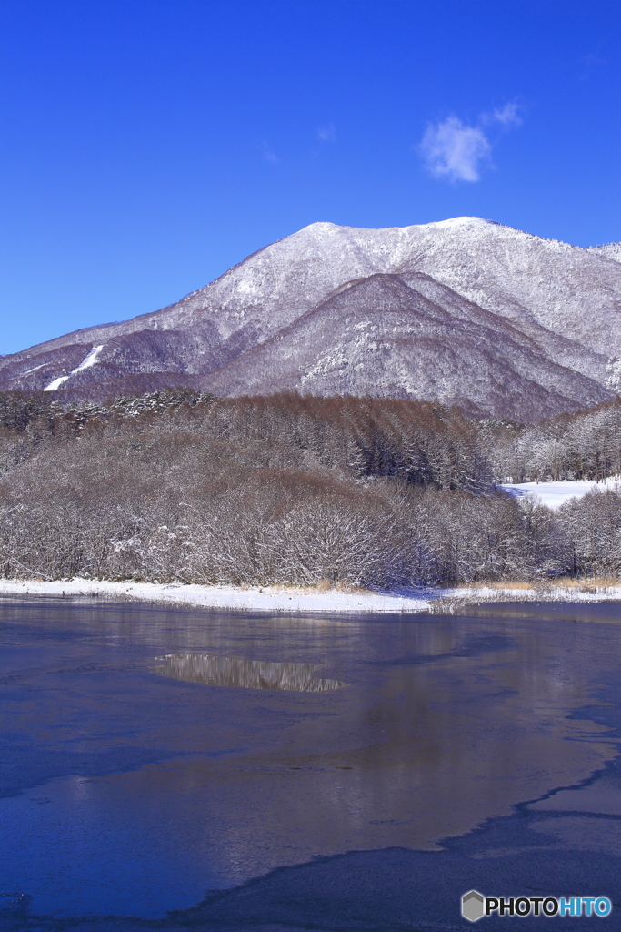
[[[459,587],[408,589],[387,593],[300,586],[198,585],[182,583],[124,583],[101,580],[2,580],[0,596],[90,596],[109,601],[164,603],[188,608],[267,612],[443,613],[476,602],[600,602],[621,601],[621,585],[533,587]]]

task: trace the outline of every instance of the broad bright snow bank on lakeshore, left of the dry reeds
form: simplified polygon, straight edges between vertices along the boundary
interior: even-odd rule
[[[413,590],[408,595],[338,589],[304,589],[296,586],[249,587],[182,585],[165,583],[106,583],[99,580],[2,580],[0,596],[99,596],[108,599],[136,599],[142,602],[169,602],[201,609],[238,611],[348,611],[401,612],[425,611],[430,599],[443,594],[435,590]]]

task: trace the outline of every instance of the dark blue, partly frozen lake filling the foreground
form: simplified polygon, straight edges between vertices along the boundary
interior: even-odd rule
[[[611,603],[1,600],[0,928],[621,929],[620,674]]]

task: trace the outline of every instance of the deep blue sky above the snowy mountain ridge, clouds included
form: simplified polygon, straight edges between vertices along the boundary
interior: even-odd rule
[[[621,5],[5,0],[0,353],[317,220],[621,240]]]

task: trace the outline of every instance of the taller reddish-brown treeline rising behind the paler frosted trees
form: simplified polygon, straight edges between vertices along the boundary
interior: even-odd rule
[[[167,418],[162,418],[162,415]],[[148,416],[157,416],[155,420]],[[128,429],[127,418],[140,418]],[[61,408],[44,392],[0,392],[3,446],[20,459],[60,437],[144,430],[191,430],[254,449],[263,464],[338,468],[350,475],[393,476],[416,484],[489,489],[493,473],[479,431],[456,408],[372,398],[321,398],[295,392],[216,399],[189,389]],[[15,432],[19,436],[15,435]],[[82,434],[80,434],[82,435]],[[0,467],[1,468],[1,467]]]

